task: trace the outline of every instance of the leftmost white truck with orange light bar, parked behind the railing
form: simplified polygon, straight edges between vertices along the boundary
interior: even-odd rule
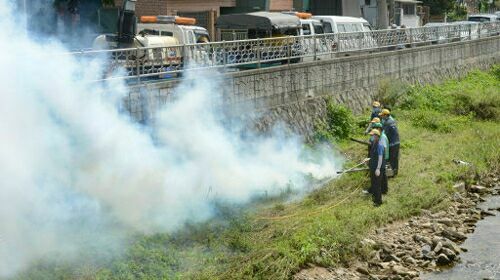
[[[120,11],[117,34],[104,34],[93,48],[112,50],[108,72],[124,66],[129,75],[155,76],[184,68],[190,58],[208,59],[194,44],[208,43],[208,31],[193,18],[135,15],[135,0],[126,0]],[[191,45],[185,47],[184,45]],[[186,51],[189,50],[189,51]]]

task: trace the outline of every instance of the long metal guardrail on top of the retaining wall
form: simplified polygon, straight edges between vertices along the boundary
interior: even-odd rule
[[[289,36],[155,48],[71,53],[79,58],[106,58],[102,79],[146,79],[177,76],[186,69],[260,68],[422,45],[475,40],[500,35],[500,22],[443,25],[371,32]]]

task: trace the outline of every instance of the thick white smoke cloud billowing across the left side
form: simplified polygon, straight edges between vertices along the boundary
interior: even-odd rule
[[[331,153],[312,160],[298,138],[241,137],[221,125],[212,76],[179,87],[153,141],[120,113],[124,84],[85,82],[102,73],[99,61],[38,44],[10,18],[0,0],[0,277],[89,242],[109,249],[126,231],[206,220],[213,199],[245,203],[335,174]]]

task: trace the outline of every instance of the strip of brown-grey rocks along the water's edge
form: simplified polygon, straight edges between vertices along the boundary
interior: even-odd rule
[[[477,221],[500,213],[500,208],[478,207],[487,196],[500,194],[498,174],[453,188],[448,209],[437,213],[422,210],[418,217],[376,229],[362,240],[366,255],[358,256],[348,267],[310,267],[294,279],[418,279],[428,272],[449,269],[466,251],[461,244],[474,232]]]

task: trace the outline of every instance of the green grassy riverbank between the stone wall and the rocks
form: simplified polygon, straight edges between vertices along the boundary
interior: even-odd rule
[[[390,180],[380,208],[361,194],[367,175],[346,174],[298,202],[287,203],[283,196],[242,208],[220,205],[214,220],[175,234],[139,237],[121,258],[82,274],[45,266],[21,278],[289,279],[308,264],[348,263],[364,255],[360,240],[370,230],[421,209],[445,209],[456,181],[500,171],[498,69],[391,93],[398,96],[392,100],[402,139],[400,174]],[[493,113],[482,114],[481,106]],[[362,130],[355,137],[364,137]],[[366,156],[362,145],[344,141],[337,146],[353,162]],[[457,166],[453,159],[473,168]]]

